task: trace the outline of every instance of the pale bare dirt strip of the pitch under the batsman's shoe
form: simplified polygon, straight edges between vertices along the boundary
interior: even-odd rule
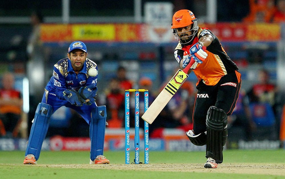
[[[38,165],[38,164],[37,164]],[[147,170],[170,172],[218,172],[237,174],[268,174],[285,176],[285,164],[219,164],[218,168],[204,168],[201,164],[106,164],[106,165],[42,165],[59,168],[93,168],[113,170]]]

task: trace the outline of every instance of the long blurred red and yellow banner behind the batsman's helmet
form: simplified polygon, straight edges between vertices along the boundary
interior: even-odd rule
[[[199,24],[199,26],[211,30],[220,41],[279,41],[281,39],[279,24],[216,23]],[[156,32],[156,29],[149,24],[42,24],[41,40],[43,42],[82,40],[156,43],[176,41],[171,35],[170,27],[164,28],[164,31],[169,32]]]

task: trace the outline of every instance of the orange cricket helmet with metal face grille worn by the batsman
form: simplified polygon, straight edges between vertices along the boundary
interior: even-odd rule
[[[177,32],[177,28],[184,28],[187,26],[190,26],[190,30],[184,31],[184,32]],[[189,11],[187,9],[182,9],[174,13],[172,17],[172,34],[174,34],[174,38],[180,41],[182,44],[186,44],[192,41],[192,39],[195,37],[199,26],[198,26],[198,19],[195,17],[195,15],[192,13],[192,11]],[[187,34],[187,32],[192,31],[192,34],[188,36],[180,37],[180,34]]]

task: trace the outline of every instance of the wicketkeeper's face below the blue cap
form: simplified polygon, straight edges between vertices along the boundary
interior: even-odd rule
[[[75,49],[71,51],[70,54],[68,53],[67,56],[71,61],[74,71],[79,72],[86,61],[87,53],[80,49]]]

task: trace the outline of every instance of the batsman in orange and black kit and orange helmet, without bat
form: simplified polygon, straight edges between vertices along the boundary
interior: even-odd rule
[[[223,146],[227,141],[227,116],[231,115],[241,88],[241,74],[231,61],[219,39],[186,9],[172,18],[172,33],[178,40],[174,56],[184,69],[198,78],[193,113],[193,130],[186,132],[194,145],[206,145],[205,168],[217,168],[223,162]],[[194,62],[194,63],[193,63]]]

